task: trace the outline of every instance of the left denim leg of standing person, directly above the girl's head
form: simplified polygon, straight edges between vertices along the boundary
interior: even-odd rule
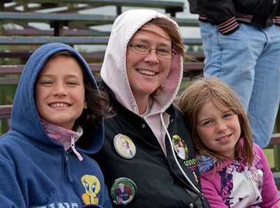
[[[248,105],[253,90],[255,64],[266,43],[258,27],[239,24],[239,29],[223,35],[209,23],[200,23],[205,54],[204,76],[215,76],[237,92],[244,107]]]

